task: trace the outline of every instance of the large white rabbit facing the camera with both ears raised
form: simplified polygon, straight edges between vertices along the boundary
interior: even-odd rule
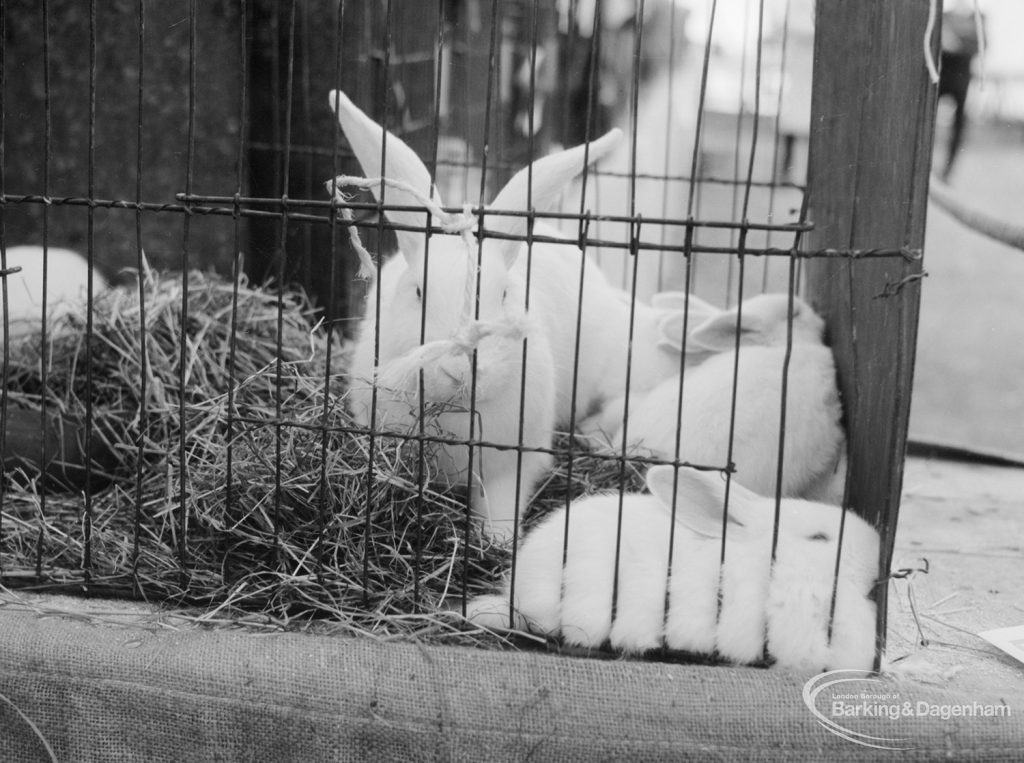
[[[422,195],[389,185],[384,201],[422,208],[423,199],[431,193],[431,178],[415,153],[388,133],[386,167],[381,172],[384,130],[341,92],[331,93],[331,104],[368,175],[381,174],[403,181]],[[516,238],[484,237],[478,293],[475,242],[470,252],[463,238],[435,235],[430,238],[425,256],[423,228],[427,213],[392,209],[385,213],[391,223],[401,226],[395,230],[401,256],[383,264],[379,283],[368,295],[352,352],[350,407],[364,426],[412,430],[419,414],[418,375],[395,370],[418,370],[422,366],[424,402],[447,406],[438,426],[456,438],[468,438],[471,358],[475,349],[474,438],[504,448],[477,449],[472,478],[467,447],[444,446],[438,455],[438,467],[452,478],[474,484],[471,500],[477,512],[488,520],[489,532],[499,538],[512,533],[514,518],[521,515],[530,489],[550,462],[545,453],[524,450],[521,469],[517,469],[515,447],[521,443],[525,449],[550,448],[554,427],[572,418],[573,384],[578,420],[625,389],[630,309],[622,293],[610,288],[593,264],[585,268],[581,288],[583,255],[574,242],[535,242],[528,260],[527,313],[527,247],[523,243],[527,217],[500,212],[548,208],[583,170],[585,157],[588,161],[598,160],[621,137],[613,130],[590,143],[589,153],[587,146],[581,145],[542,158],[508,182],[490,205],[495,212],[485,214],[484,224],[487,232]],[[377,182],[371,188],[380,195]],[[432,198],[440,204],[436,190]],[[560,238],[541,222],[534,225],[534,234]],[[577,306],[581,295],[578,352]],[[645,326],[650,335],[639,344],[657,353],[653,334],[656,322]],[[520,411],[523,338],[527,340],[527,357]],[[423,353],[428,345],[437,349],[444,343],[449,351],[439,355],[435,352],[430,362],[420,366],[410,365],[410,358]],[[579,368],[574,372],[577,356]],[[637,363],[648,361],[640,357]],[[375,381],[376,413],[372,411]],[[656,381],[643,375],[638,385],[649,388]]]

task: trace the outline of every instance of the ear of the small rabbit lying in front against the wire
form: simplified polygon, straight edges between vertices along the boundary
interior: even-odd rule
[[[722,537],[722,512],[725,507],[725,478],[714,471],[698,471],[674,466],[652,466],[647,471],[647,488],[672,512],[675,501],[676,521],[697,535]],[[729,485],[729,528],[733,534],[745,534],[746,525],[760,514],[764,499],[738,484]]]

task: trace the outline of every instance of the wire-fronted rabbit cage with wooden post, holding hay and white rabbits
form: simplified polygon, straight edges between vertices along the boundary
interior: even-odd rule
[[[678,522],[631,535],[645,475],[669,469],[712,485],[718,535],[738,526],[723,496],[761,493],[779,564],[792,497],[845,507],[821,516],[847,538],[873,525],[877,659],[928,16],[927,0],[4,3],[0,583],[201,622],[675,659],[701,650],[659,625],[653,643],[608,632],[636,598],[627,543],[684,543]],[[378,384],[358,398],[357,369]],[[445,377],[462,402],[432,393]],[[770,462],[755,485],[752,460]],[[590,494],[610,513],[579,508]],[[549,519],[566,507],[586,527]],[[556,597],[569,541],[623,566],[597,635],[499,640],[462,617],[509,573],[543,579],[531,528],[564,535]],[[812,556],[837,579],[842,552]],[[640,585],[664,593],[654,570]],[[750,662],[784,660],[766,638]]]

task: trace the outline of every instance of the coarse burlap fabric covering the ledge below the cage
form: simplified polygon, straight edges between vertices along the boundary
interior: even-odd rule
[[[806,676],[311,634],[97,624],[0,607],[0,760],[877,760]],[[901,702],[1009,717],[861,719],[906,760],[1019,760],[1024,688]],[[31,721],[31,723],[30,723]],[[33,728],[33,725],[35,728]],[[42,738],[41,738],[42,737]]]

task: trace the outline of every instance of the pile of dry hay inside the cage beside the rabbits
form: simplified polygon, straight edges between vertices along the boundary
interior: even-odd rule
[[[106,484],[76,495],[8,469],[0,580],[289,627],[451,633],[458,619],[437,612],[490,589],[508,551],[437,485],[433,446],[421,458],[415,439],[355,430],[338,342],[310,328],[304,295],[146,272],[142,296],[97,299],[88,353],[81,317],[52,331],[45,352],[38,338],[10,347],[10,409],[45,399],[81,423],[90,400]],[[578,451],[535,504],[613,488],[620,469]],[[636,489],[637,470],[626,473]]]

